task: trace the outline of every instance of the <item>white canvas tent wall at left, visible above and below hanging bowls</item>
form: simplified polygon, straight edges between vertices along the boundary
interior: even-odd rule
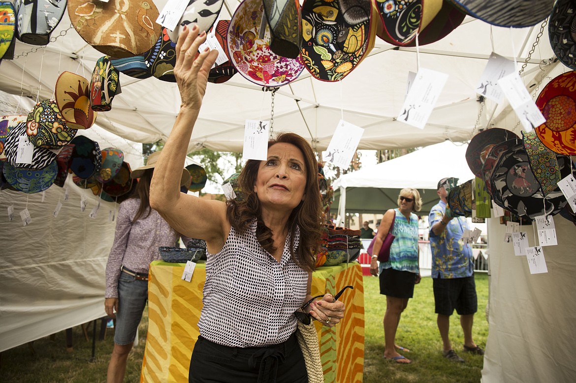
[[[97,126],[78,134],[101,149],[120,148],[131,168],[142,166],[142,144]],[[84,212],[81,196],[88,198]],[[64,187],[52,185],[42,198],[42,193],[0,191],[0,352],[106,315],[105,267],[118,205],[100,201],[96,217],[90,218],[99,198],[74,185],[71,175]],[[62,209],[54,217],[58,202]],[[25,208],[32,223],[24,227],[19,213]]]

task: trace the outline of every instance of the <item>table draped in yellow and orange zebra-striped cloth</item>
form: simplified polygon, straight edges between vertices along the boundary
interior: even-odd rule
[[[186,382],[198,320],[206,265],[196,264],[190,282],[182,279],[184,264],[154,261],[148,283],[148,332],[141,382]],[[320,354],[324,380],[335,383],[362,382],[364,366],[364,288],[358,262],[319,267],[312,274],[312,294],[335,294],[346,285],[339,300],[346,304],[344,319],[335,327],[320,325]]]

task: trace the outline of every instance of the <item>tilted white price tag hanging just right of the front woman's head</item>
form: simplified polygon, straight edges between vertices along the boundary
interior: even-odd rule
[[[364,129],[340,120],[326,149],[324,159],[336,166],[347,169],[358,148]]]

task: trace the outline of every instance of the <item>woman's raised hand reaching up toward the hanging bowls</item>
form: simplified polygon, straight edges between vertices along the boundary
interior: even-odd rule
[[[210,51],[209,48],[204,49],[196,57],[198,48],[204,41],[206,41],[206,32],[200,33],[196,24],[190,28],[185,25],[178,38],[174,75],[182,100],[180,108],[198,111],[202,105],[208,74],[218,57],[218,51]]]

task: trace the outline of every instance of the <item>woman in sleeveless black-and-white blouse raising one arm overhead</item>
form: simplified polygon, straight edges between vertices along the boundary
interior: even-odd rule
[[[150,185],[150,205],[178,231],[206,240],[206,284],[189,382],[308,382],[295,339],[297,317],[327,327],[344,317],[331,293],[310,295],[321,233],[317,161],[301,136],[281,133],[266,160],[248,160],[238,178],[242,201],[179,193],[179,173],[218,52],[185,28],[174,74],[181,106]],[[302,312],[304,311],[304,312]],[[298,315],[297,315],[298,313]]]

